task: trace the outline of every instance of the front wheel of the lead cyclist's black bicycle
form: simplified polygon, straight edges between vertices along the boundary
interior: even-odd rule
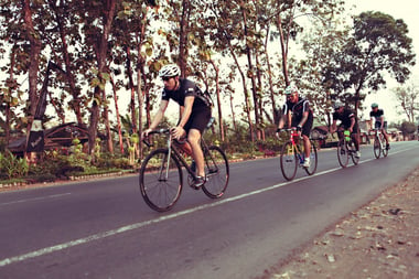
[[[140,191],[154,211],[165,212],[178,202],[182,192],[182,168],[168,149],[153,150],[140,169]]]

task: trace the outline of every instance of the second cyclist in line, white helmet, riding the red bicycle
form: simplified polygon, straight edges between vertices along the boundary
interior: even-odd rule
[[[283,128],[286,121],[288,127],[297,127],[299,135],[302,136],[304,143],[303,167],[310,167],[310,132],[313,126],[313,110],[307,98],[299,96],[298,88],[293,85],[287,86],[284,94],[287,101],[282,108],[282,117],[278,124],[277,133]]]

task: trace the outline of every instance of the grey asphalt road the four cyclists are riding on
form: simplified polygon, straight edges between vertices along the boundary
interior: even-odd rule
[[[342,169],[335,150],[292,182],[270,158],[230,164],[221,200],[184,187],[150,210],[137,176],[0,194],[0,278],[254,278],[419,165],[419,142],[395,142]]]

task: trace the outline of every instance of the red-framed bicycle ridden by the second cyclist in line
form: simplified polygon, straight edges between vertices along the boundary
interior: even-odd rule
[[[286,180],[291,181],[294,179],[297,169],[300,165],[305,170],[309,175],[314,174],[318,169],[318,151],[314,142],[310,139],[310,167],[302,167],[304,162],[304,148],[300,142],[302,137],[299,136],[297,128],[282,129],[289,135],[289,140],[283,143],[280,155],[281,172]]]

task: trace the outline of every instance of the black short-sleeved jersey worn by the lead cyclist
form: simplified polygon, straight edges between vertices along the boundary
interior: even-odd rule
[[[179,79],[180,86],[178,90],[166,90],[163,89],[162,99],[169,100],[173,99],[180,106],[185,105],[185,97],[195,96],[192,109],[211,107],[211,103],[207,97],[202,93],[197,85],[189,79]]]

